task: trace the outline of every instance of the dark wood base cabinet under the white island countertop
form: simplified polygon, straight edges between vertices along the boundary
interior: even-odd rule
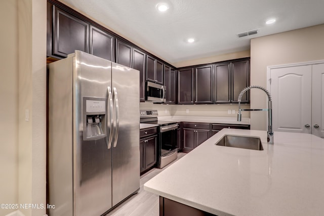
[[[215,215],[191,206],[167,199],[165,197],[159,197],[159,215],[160,216],[210,216]]]

